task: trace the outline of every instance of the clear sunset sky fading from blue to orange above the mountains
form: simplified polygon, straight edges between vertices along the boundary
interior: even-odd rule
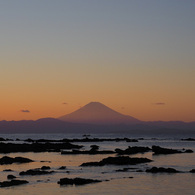
[[[195,121],[195,1],[1,0],[0,92],[0,120]]]

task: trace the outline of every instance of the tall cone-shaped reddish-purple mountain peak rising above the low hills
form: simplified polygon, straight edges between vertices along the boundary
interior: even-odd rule
[[[140,120],[123,115],[99,102],[90,102],[80,109],[59,117],[58,119],[72,123],[86,124],[134,124]]]

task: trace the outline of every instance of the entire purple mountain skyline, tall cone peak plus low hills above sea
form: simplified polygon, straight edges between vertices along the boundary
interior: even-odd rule
[[[195,137],[195,122],[145,122],[120,114],[99,102],[91,102],[57,119],[0,121],[0,134],[3,133],[130,133]]]

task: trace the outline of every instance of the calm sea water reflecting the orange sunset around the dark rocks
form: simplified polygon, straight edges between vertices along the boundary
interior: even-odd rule
[[[63,139],[63,138],[82,138],[79,134],[4,134],[0,137],[21,140],[31,139]],[[135,138],[131,135],[91,135],[91,137],[97,138],[117,138],[128,137]],[[167,148],[176,149],[192,149],[195,152],[195,142],[181,141],[178,136],[137,136],[143,137],[144,140],[139,142],[98,142],[98,143],[76,143],[84,145],[85,149],[89,149],[90,145],[97,144],[100,146],[100,150],[121,148],[125,149],[128,146],[149,146],[158,145]],[[152,138],[158,139],[152,139]],[[185,137],[188,137],[187,135]],[[7,156],[27,157],[35,162],[27,164],[12,164],[12,165],[0,165],[0,181],[7,180],[8,174],[13,174],[18,179],[25,179],[29,181],[27,185],[21,185],[16,187],[1,188],[1,195],[35,195],[35,194],[195,194],[195,174],[189,173],[191,169],[195,169],[195,153],[184,154],[172,154],[172,155],[152,155],[152,152],[145,154],[131,155],[131,157],[147,157],[153,160],[151,163],[131,166],[103,166],[103,167],[80,167],[83,162],[100,161],[103,158],[113,155],[61,155],[60,153],[11,153]],[[0,158],[4,154],[0,154]],[[51,162],[40,162],[51,161]],[[41,166],[50,166],[55,173],[44,176],[19,176],[20,171],[25,171],[32,168],[40,168]],[[58,170],[60,166],[66,166],[66,170]],[[175,168],[182,173],[177,174],[151,174],[146,172],[135,172],[131,169],[129,172],[116,172],[117,169],[122,168],[138,168],[145,170],[152,166],[163,166]],[[3,172],[4,169],[12,169],[13,172]],[[68,171],[68,172],[67,172]],[[74,178],[83,177],[91,179],[103,180],[101,183],[88,184],[83,186],[63,186],[60,187],[57,181],[60,178]],[[133,177],[133,178],[129,178]],[[109,181],[105,181],[109,180]]]

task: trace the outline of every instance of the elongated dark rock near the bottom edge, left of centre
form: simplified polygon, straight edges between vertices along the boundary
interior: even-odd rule
[[[97,183],[101,182],[100,180],[93,180],[93,179],[84,179],[84,178],[62,178],[60,181],[58,181],[58,184],[60,185],[85,185],[90,183]]]

